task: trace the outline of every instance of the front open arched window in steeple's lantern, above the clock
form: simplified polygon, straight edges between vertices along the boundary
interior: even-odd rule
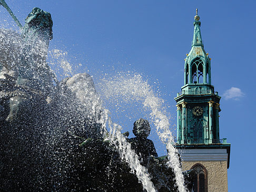
[[[192,62],[192,83],[203,83],[203,61],[199,57]]]

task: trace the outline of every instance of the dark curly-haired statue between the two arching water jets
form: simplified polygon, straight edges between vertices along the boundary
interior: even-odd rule
[[[157,153],[152,140],[147,139],[150,134],[150,124],[147,120],[140,118],[133,124],[134,138],[128,139],[131,143],[132,149],[136,154],[142,158],[142,164],[146,165],[148,158],[153,156],[157,157]]]

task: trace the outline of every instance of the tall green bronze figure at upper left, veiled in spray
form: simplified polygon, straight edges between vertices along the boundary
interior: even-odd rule
[[[17,84],[49,85],[53,74],[46,64],[49,41],[53,38],[51,14],[35,7],[25,19],[21,65]],[[33,82],[27,82],[33,80]]]

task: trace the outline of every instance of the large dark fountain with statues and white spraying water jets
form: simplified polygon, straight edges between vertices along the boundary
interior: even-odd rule
[[[22,27],[5,1],[0,4],[21,28],[0,30],[1,191],[192,189],[194,171],[182,173],[169,120],[139,76],[105,82],[105,96],[119,92],[150,108],[167,156],[158,157],[147,139],[147,120],[136,120],[135,138],[121,133],[90,75],[57,80],[46,62],[53,38],[50,13],[33,8]]]

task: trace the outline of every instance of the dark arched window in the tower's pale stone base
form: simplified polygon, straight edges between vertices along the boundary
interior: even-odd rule
[[[206,168],[202,164],[195,164],[191,167],[191,169],[195,170],[194,177],[194,192],[207,192],[208,191],[208,173]]]

